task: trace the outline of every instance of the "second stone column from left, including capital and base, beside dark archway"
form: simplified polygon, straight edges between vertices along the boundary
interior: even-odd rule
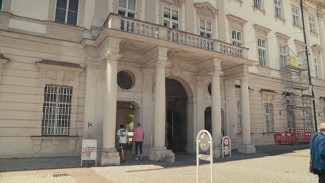
[[[155,116],[154,116],[154,143],[149,151],[149,159],[155,162],[174,162],[175,156],[172,150],[165,147],[166,134],[166,85],[165,67],[167,64],[167,51],[163,47],[157,47],[154,53],[158,59],[156,65],[155,84]]]

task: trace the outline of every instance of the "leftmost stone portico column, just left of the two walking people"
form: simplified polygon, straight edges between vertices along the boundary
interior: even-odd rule
[[[115,126],[117,105],[117,60],[121,55],[106,55],[106,100],[105,118],[103,121],[103,146],[101,165],[119,165],[119,153],[115,149]]]

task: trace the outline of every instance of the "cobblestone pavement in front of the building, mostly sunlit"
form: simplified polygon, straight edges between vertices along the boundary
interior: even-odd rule
[[[317,182],[317,175],[308,173],[309,150],[306,147],[295,146],[292,150],[292,146],[281,146],[281,149],[278,146],[265,146],[257,148],[258,153],[253,155],[242,155],[234,151],[231,158],[215,159],[213,182]],[[86,168],[68,168],[77,167],[78,159],[66,159],[70,161],[68,164],[59,158],[48,158],[48,161],[0,159],[0,182],[196,182],[195,156],[190,155],[176,155],[175,164],[153,164],[147,159],[138,162],[129,157],[122,166]],[[48,166],[44,168],[66,167],[29,171],[27,164],[31,164],[29,169],[46,164]],[[19,166],[24,166],[27,171],[19,171],[24,169]],[[200,182],[210,182],[210,166],[201,165],[199,170]]]

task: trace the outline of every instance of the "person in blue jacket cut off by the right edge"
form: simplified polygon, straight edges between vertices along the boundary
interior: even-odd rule
[[[319,132],[310,137],[310,171],[318,175],[318,182],[325,183],[325,123],[319,125]]]

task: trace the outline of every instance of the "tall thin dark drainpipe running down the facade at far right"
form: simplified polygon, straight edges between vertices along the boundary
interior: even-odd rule
[[[317,116],[316,116],[316,105],[315,105],[315,94],[314,94],[314,88],[312,85],[312,80],[310,76],[310,64],[309,64],[309,58],[308,58],[308,48],[307,48],[307,39],[306,39],[306,28],[305,28],[305,19],[303,17],[303,0],[300,0],[300,9],[301,9],[301,19],[302,19],[302,26],[303,26],[303,40],[306,44],[305,46],[305,53],[306,53],[306,58],[307,58],[307,69],[308,69],[308,80],[309,80],[309,85],[311,86],[311,92],[312,92],[312,97],[313,97],[313,111],[314,111],[314,122],[315,122],[315,130],[317,130]]]

